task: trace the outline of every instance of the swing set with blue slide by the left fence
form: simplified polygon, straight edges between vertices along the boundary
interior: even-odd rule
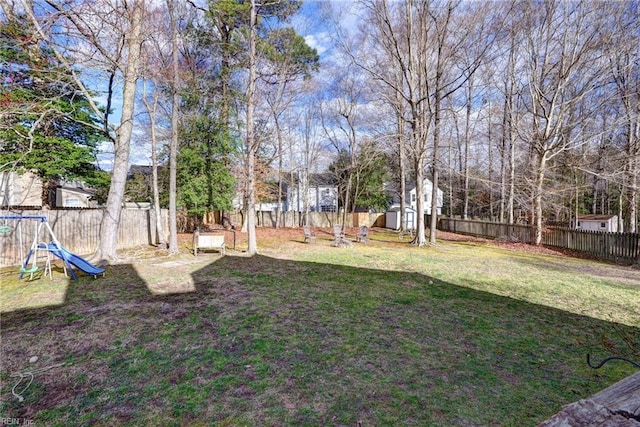
[[[23,221],[34,222],[34,237],[26,256],[24,256],[22,239]],[[40,234],[43,231],[47,232],[49,235],[49,239],[47,239],[49,240],[48,243],[43,242],[40,239]],[[105,273],[105,270],[103,268],[96,267],[86,259],[66,250],[60,244],[55,234],[53,233],[53,229],[49,225],[46,216],[0,215],[0,237],[10,234],[13,234],[14,241],[15,237],[17,236],[17,242],[15,242],[14,244],[18,245],[20,259],[24,260],[20,268],[20,279],[22,279],[25,274],[28,274],[30,279],[33,279],[34,273],[40,269],[40,267],[38,266],[38,261],[42,259],[44,259],[43,274],[44,276],[49,276],[49,278],[52,279],[53,273],[51,269],[51,255],[54,255],[55,257],[62,260],[64,264],[65,276],[67,275],[68,271],[73,280],[78,280],[73,267],[93,277],[98,277],[99,274],[104,275]],[[31,265],[29,263],[31,263]]]

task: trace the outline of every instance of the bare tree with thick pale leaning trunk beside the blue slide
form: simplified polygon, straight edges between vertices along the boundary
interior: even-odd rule
[[[114,156],[111,175],[111,187],[107,204],[100,224],[100,243],[94,258],[97,260],[116,260],[120,214],[124,200],[124,190],[129,167],[129,152],[133,130],[137,81],[140,75],[141,46],[143,43],[142,26],[145,16],[144,1],[95,1],[80,4],[61,4],[44,0],[49,8],[56,12],[59,25],[66,30],[66,55],[72,56],[77,63],[96,67],[108,74],[108,100],[104,113],[105,129],[110,129],[109,109],[113,96],[116,74],[122,77],[122,111],[119,124],[113,129]],[[43,6],[41,5],[41,6]],[[25,4],[26,6],[26,4]],[[31,10],[27,8],[28,10]],[[52,15],[53,16],[53,15]],[[31,14],[37,24],[35,16]],[[41,28],[38,25],[38,28]],[[44,35],[44,33],[42,33]],[[72,41],[75,40],[75,43]],[[49,38],[52,46],[53,38]],[[78,48],[72,50],[73,48]],[[62,47],[58,44],[57,55]],[[83,59],[90,61],[83,61]],[[98,58],[99,62],[95,62]],[[91,62],[93,61],[93,62]],[[69,66],[71,69],[72,67]],[[83,90],[84,86],[79,85]],[[86,91],[89,95],[88,91]],[[88,96],[88,98],[91,98]],[[96,111],[101,111],[95,104]]]

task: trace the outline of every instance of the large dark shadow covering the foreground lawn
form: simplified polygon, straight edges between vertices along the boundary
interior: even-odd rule
[[[191,291],[168,295],[132,265],[107,273],[69,283],[61,306],[2,315],[0,415],[531,425],[631,372],[584,362],[592,346],[623,348],[619,325],[418,273],[225,256],[189,275]],[[10,373],[58,364],[23,402],[12,397]]]

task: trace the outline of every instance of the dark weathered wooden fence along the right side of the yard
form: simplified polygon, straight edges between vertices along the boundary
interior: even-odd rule
[[[523,243],[534,241],[534,229],[529,225],[441,218],[438,228],[443,231],[493,239],[505,238]],[[542,244],[584,252],[616,262],[634,263],[640,256],[640,234],[638,233],[547,228],[542,233]]]

